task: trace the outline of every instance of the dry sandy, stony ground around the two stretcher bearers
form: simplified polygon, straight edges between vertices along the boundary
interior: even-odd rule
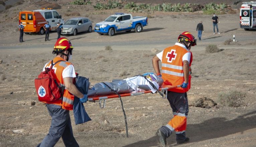
[[[113,12],[104,11],[93,20],[93,25]],[[219,15],[220,35],[213,35],[210,15],[163,12],[150,15],[153,18],[149,18],[149,25],[141,33],[132,31],[110,37],[92,32],[64,36],[75,47],[71,62],[76,71],[89,77],[91,84],[153,72],[151,59],[156,53],[151,49],[156,48],[160,52],[173,45],[183,31],[197,36],[196,26],[202,20],[205,28],[203,40],[191,49],[193,78],[188,99],[190,103],[208,97],[218,105],[213,108],[190,106],[186,132],[190,142],[177,145],[175,135],[172,135],[167,139],[167,146],[254,147],[255,31],[239,28],[239,14]],[[34,79],[43,65],[54,57],[51,51],[57,33],[52,32],[50,41],[46,42],[44,35],[24,34],[25,42],[18,43],[19,32],[6,25],[4,27],[8,31],[1,29],[3,35],[0,36],[0,146],[36,146],[47,134],[51,118],[46,107],[37,100]],[[224,41],[233,39],[233,35],[238,42],[224,45]],[[224,50],[205,53],[209,44],[216,44]],[[105,50],[106,45],[113,50]],[[230,91],[246,93],[247,106],[234,108],[220,104],[218,94]],[[31,106],[31,102],[35,105]],[[70,112],[74,136],[80,146],[158,146],[155,132],[172,118],[168,101],[158,94],[145,94],[124,97],[123,103],[128,117],[129,138],[125,135],[119,99],[107,100],[104,109],[100,109],[98,103],[87,102],[85,108],[92,121],[85,124],[75,125],[73,112]],[[18,131],[15,133],[14,130]],[[62,140],[56,146],[64,146]]]

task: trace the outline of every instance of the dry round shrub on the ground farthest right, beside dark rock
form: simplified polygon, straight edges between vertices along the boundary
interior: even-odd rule
[[[221,92],[218,95],[220,104],[229,107],[246,106],[245,104],[246,93],[239,91]]]

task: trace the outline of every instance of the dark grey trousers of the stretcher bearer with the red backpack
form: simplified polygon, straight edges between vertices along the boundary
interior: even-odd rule
[[[66,147],[79,147],[73,136],[69,110],[61,109],[58,105],[46,104],[51,116],[49,133],[37,147],[53,147],[61,137]]]

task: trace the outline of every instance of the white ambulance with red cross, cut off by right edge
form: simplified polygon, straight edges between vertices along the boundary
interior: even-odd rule
[[[256,29],[256,1],[243,2],[240,9],[240,28]]]

